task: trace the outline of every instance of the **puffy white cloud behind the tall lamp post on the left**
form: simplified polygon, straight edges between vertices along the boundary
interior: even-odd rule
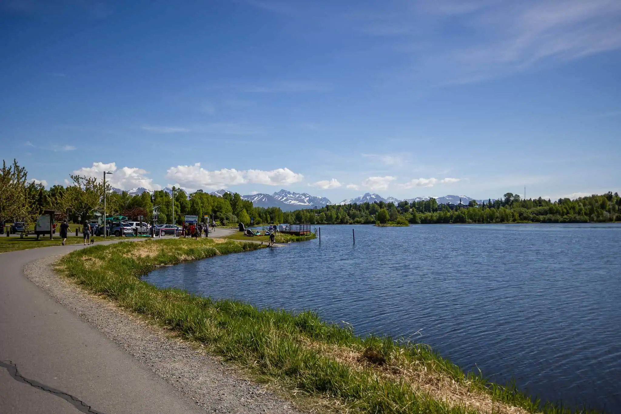
[[[153,179],[146,176],[148,172],[144,169],[117,168],[116,163],[93,163],[93,166],[77,169],[73,171],[73,174],[103,179],[104,171],[112,173],[112,175],[106,176],[106,182],[109,182],[112,187],[122,190],[131,190],[137,187],[143,187],[150,191],[161,189],[159,184],[153,184]]]

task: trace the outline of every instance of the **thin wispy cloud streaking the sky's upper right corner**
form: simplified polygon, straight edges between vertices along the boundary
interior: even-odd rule
[[[416,71],[472,83],[621,48],[621,2],[492,2],[461,17],[473,33],[431,53]]]

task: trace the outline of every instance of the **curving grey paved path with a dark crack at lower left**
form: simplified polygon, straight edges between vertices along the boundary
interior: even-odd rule
[[[0,254],[0,413],[201,412],[24,276],[30,261],[79,248]]]

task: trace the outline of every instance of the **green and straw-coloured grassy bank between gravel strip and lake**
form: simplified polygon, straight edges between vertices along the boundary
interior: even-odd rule
[[[314,312],[258,310],[141,281],[156,266],[256,250],[222,239],[147,240],[74,251],[57,271],[145,320],[196,341],[258,379],[337,412],[568,413],[512,385],[465,374],[424,344],[361,338]],[[240,258],[241,259],[241,258]]]

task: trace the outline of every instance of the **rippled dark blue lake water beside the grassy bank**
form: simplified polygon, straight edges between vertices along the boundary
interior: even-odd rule
[[[356,245],[352,245],[351,229]],[[621,413],[621,225],[321,226],[145,280],[433,346],[545,400]]]

